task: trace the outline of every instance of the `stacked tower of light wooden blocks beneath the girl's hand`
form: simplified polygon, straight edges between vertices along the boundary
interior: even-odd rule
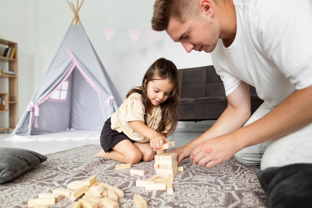
[[[177,154],[159,153],[155,156],[156,174],[160,178],[174,178],[177,175]]]

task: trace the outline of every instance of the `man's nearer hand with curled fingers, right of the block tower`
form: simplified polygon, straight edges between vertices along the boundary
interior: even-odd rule
[[[199,167],[211,168],[230,159],[238,150],[228,135],[207,140],[198,145],[190,154],[190,159]]]

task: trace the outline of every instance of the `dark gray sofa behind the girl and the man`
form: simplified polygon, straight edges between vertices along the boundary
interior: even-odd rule
[[[216,120],[227,107],[224,86],[213,66],[178,70],[180,102],[179,121]],[[250,87],[251,112],[262,103]]]

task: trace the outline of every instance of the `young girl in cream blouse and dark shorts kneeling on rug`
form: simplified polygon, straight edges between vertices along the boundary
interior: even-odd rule
[[[95,157],[121,163],[152,161],[177,125],[179,85],[176,66],[159,58],[131,89],[103,127],[102,150]]]

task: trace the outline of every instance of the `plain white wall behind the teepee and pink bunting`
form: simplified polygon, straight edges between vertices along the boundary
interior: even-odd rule
[[[70,0],[76,6],[76,0]],[[81,2],[81,0],[79,0]],[[211,65],[210,54],[185,52],[165,32],[153,34],[154,0],[84,0],[79,16],[122,98],[141,84],[159,57],[177,68]],[[39,85],[74,17],[67,0],[0,0],[0,38],[18,43],[19,117]],[[106,40],[103,28],[115,28]],[[135,42],[128,30],[140,29]],[[0,51],[1,52],[1,51]]]

